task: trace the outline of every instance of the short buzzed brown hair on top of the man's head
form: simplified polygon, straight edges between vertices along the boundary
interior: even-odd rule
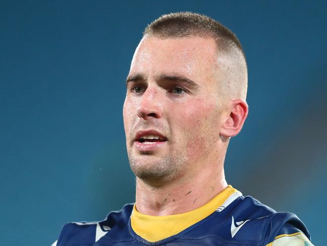
[[[149,24],[143,37],[154,35],[158,37],[203,36],[214,38],[220,51],[238,50],[245,54],[236,35],[218,21],[202,14],[178,12],[162,15]]]

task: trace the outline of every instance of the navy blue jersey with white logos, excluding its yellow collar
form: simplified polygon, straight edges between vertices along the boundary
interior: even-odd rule
[[[53,245],[312,245],[308,230],[295,214],[277,213],[239,191],[205,219],[156,242],[136,234],[130,223],[132,211],[133,204],[127,204],[101,222],[68,223]]]

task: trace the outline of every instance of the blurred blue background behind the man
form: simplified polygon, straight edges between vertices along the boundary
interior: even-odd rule
[[[323,245],[326,5],[0,0],[2,245],[50,245],[64,223],[102,220],[134,202],[124,81],[145,26],[176,11],[221,21],[247,55],[249,116],[230,143],[227,181],[296,213]]]

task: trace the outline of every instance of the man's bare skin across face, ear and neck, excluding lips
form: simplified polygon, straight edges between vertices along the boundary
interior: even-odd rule
[[[247,116],[245,101],[237,98],[244,97],[240,92],[244,86],[229,92],[234,91],[232,84],[239,84],[228,82],[234,76],[233,64],[240,63],[225,54],[217,56],[212,38],[146,36],[141,40],[123,106],[139,212],[188,212],[227,187],[223,164],[229,138],[241,130]],[[237,76],[247,79],[246,73]],[[167,141],[154,150],[140,151],[135,144],[140,130],[156,130]]]

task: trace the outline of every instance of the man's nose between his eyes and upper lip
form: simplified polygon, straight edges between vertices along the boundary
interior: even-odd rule
[[[160,118],[162,116],[162,103],[160,102],[160,96],[156,89],[146,89],[137,108],[137,114],[145,120],[149,117]]]

